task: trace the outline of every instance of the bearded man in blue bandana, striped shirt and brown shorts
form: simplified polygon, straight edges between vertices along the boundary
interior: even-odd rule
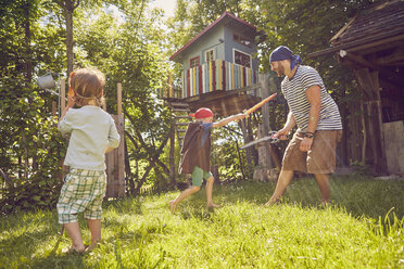
[[[300,65],[301,62],[285,46],[269,56],[272,71],[285,76],[281,90],[289,106],[287,123],[275,137],[286,140],[295,125],[298,130],[285,151],[278,183],[266,205],[280,200],[294,171],[314,174],[321,204],[330,201],[328,175],[336,169],[336,146],[342,137],[341,116],[321,77],[314,68]]]

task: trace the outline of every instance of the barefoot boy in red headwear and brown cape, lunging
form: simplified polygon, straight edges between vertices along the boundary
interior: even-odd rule
[[[189,195],[201,190],[203,179],[206,180],[206,208],[218,207],[212,201],[214,178],[210,172],[211,166],[211,129],[227,125],[237,119],[245,118],[245,114],[237,114],[220,121],[213,123],[213,113],[210,108],[199,108],[190,116],[195,118],[194,123],[188,125],[184,145],[181,149],[181,159],[179,162],[179,174],[191,174],[192,185],[181,192],[178,197],[169,201],[169,209],[175,212],[177,205]]]

